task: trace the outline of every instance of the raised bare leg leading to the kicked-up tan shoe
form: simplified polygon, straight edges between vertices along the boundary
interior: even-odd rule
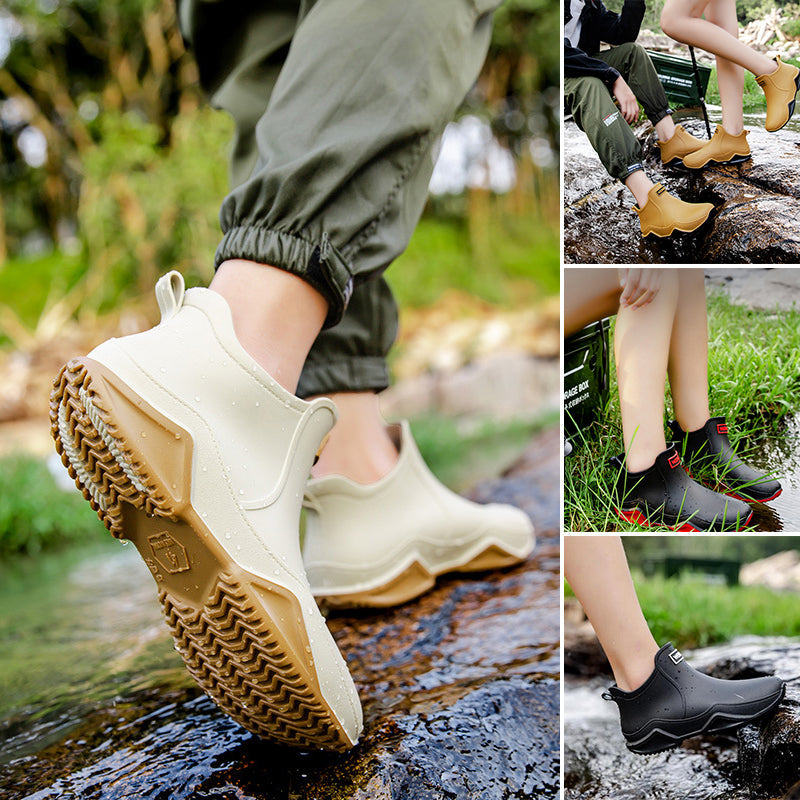
[[[712,2],[715,4],[715,9],[711,12],[714,18],[727,19],[727,12],[721,10],[721,5],[733,7],[735,15],[734,0]],[[709,5],[709,0],[666,0],[661,12],[662,30],[679,42],[702,47],[716,56],[749,69],[754,75],[775,72],[777,64],[774,61],[742,44],[736,36],[710,19],[702,18]]]

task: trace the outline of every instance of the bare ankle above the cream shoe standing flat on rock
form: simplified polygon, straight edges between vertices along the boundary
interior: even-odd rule
[[[311,474],[344,475],[356,483],[373,483],[397,463],[397,448],[373,392],[342,392],[329,395],[339,420],[320,453]],[[310,399],[310,398],[309,398]]]

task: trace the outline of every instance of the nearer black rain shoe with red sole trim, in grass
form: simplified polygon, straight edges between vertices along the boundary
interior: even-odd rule
[[[627,522],[665,525],[674,531],[737,531],[753,516],[747,503],[692,480],[674,445],[641,472],[628,472],[622,456],[612,458],[611,464],[619,469],[617,514]]]

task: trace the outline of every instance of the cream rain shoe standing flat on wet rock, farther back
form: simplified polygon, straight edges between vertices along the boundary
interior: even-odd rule
[[[445,572],[519,563],[534,545],[527,515],[454,494],[431,474],[408,423],[391,428],[392,471],[367,486],[332,475],[306,487],[303,559],[312,591],[334,606],[393,606]]]

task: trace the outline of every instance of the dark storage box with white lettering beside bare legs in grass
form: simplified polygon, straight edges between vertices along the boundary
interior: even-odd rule
[[[564,430],[575,433],[595,420],[609,395],[611,320],[593,322],[564,341]]]

